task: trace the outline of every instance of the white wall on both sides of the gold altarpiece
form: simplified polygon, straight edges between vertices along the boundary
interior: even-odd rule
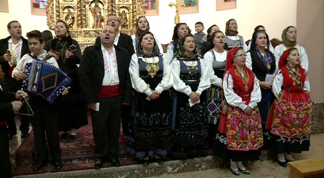
[[[9,13],[0,13],[0,38],[9,34],[6,25],[11,20],[20,22],[23,36],[31,30],[48,30],[46,16],[30,14],[30,0],[8,0]],[[148,16],[151,31],[156,34],[162,44],[169,43],[173,34],[175,8],[170,8],[170,0],[159,1],[159,16]],[[296,25],[297,0],[237,0],[237,8],[216,11],[215,0],[200,0],[199,13],[180,15],[180,21],[185,22],[194,31],[194,24],[202,21],[205,33],[209,26],[216,24],[220,30],[225,30],[225,23],[235,18],[238,32],[245,40],[251,39],[253,29],[263,25],[267,29],[270,39],[281,40],[282,30],[289,25]]]

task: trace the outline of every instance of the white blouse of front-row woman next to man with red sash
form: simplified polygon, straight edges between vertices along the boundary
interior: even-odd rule
[[[140,57],[140,60],[145,62],[145,59]],[[136,54],[132,55],[131,64],[129,66],[129,73],[131,75],[131,81],[133,89],[135,89],[137,92],[145,93],[147,96],[150,96],[152,94],[153,89],[150,88],[148,84],[145,83],[145,81],[140,77],[139,75],[139,64],[138,64],[138,57]],[[159,57],[150,57],[146,58],[146,61],[148,63],[155,63],[159,62]],[[162,91],[167,90],[172,87],[173,84],[173,76],[171,74],[171,67],[168,65],[166,60],[163,60],[163,77],[161,82],[156,86],[155,90],[159,93],[162,93]]]

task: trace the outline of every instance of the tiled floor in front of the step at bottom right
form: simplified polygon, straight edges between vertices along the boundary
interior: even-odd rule
[[[310,150],[301,154],[293,154],[295,160],[304,160],[324,156],[324,134],[311,135]],[[290,168],[278,165],[274,160],[254,162],[245,164],[250,170],[250,175],[240,174],[235,176],[230,172],[230,168],[216,168],[196,172],[186,172],[151,178],[225,178],[225,177],[248,177],[248,178],[287,178]],[[324,169],[324,168],[323,168]]]

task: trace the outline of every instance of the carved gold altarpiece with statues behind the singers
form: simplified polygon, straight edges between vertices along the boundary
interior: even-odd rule
[[[81,48],[95,43],[109,15],[120,18],[120,32],[128,35],[136,31],[136,19],[145,16],[143,0],[48,0],[46,12],[49,29],[64,20]]]

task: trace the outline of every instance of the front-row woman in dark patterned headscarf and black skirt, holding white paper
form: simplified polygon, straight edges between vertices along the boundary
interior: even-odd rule
[[[185,35],[180,40],[174,56],[171,71],[176,97],[172,118],[174,143],[171,154],[182,159],[206,156],[208,123],[205,90],[210,87],[208,68],[205,61],[198,56],[192,34]]]

